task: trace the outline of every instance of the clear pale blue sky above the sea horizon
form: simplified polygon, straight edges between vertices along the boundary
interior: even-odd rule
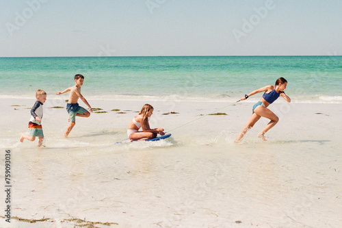
[[[342,55],[341,0],[1,0],[0,9],[0,57]]]

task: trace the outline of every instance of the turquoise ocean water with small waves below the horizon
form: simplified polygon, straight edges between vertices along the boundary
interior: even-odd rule
[[[0,58],[0,98],[54,94],[77,73],[87,99],[233,101],[285,77],[296,101],[342,103],[342,56]]]

